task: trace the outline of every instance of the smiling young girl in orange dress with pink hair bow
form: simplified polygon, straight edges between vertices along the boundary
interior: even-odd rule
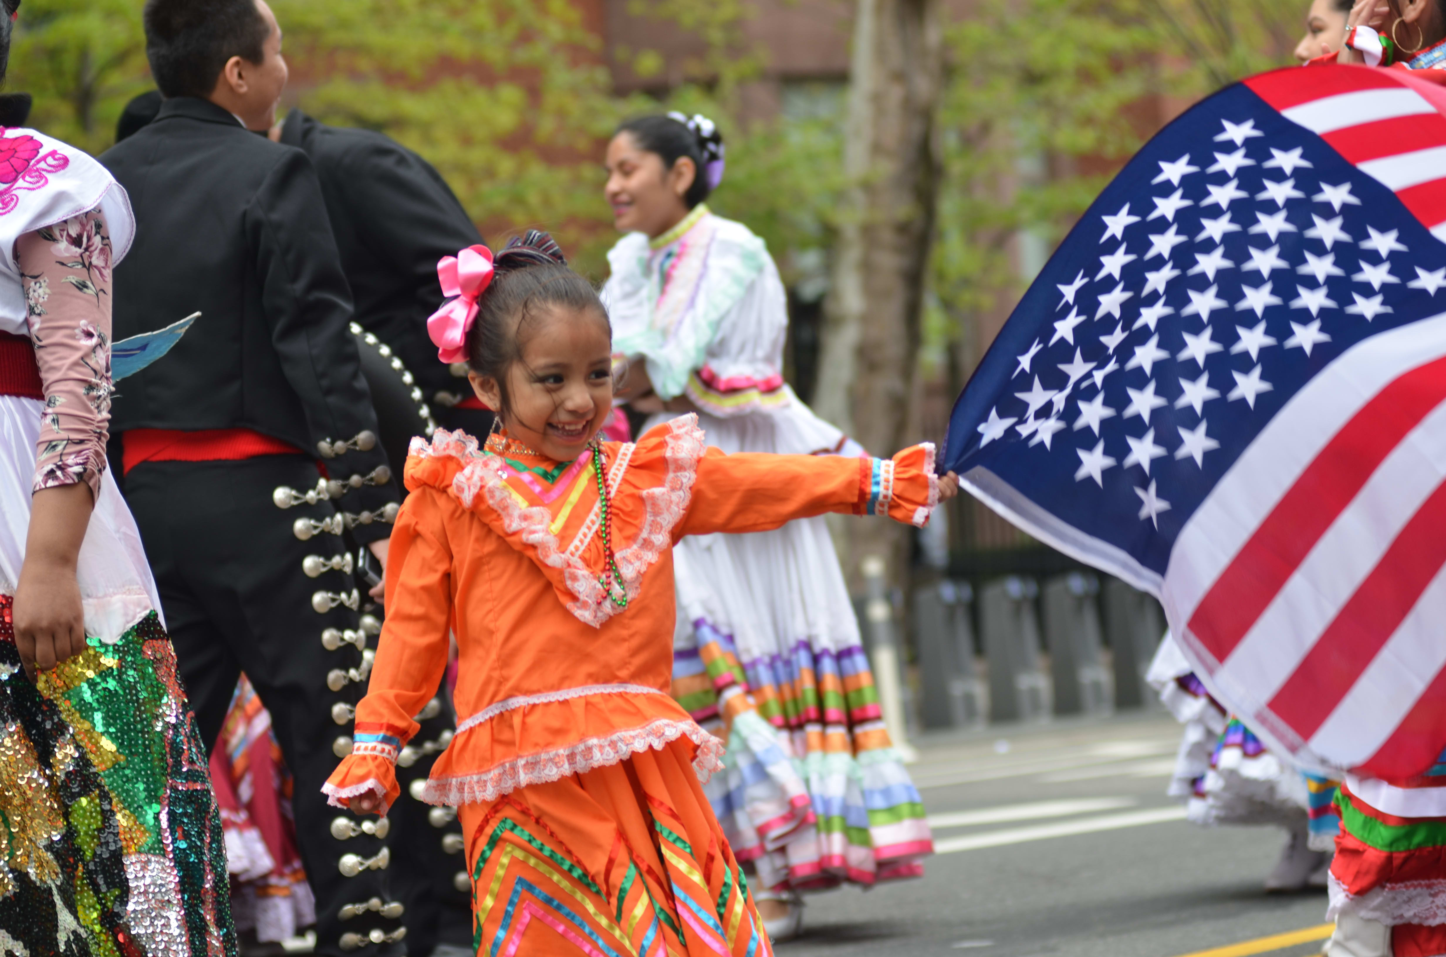
[[[429,321],[500,431],[414,439],[388,619],[331,801],[386,812],[412,720],[460,651],[457,736],[424,798],[467,836],[487,957],[771,953],[703,794],[723,744],[671,697],[672,545],[826,512],[923,525],[957,492],[892,460],[724,455],[693,416],[603,442],[612,330],[547,234],[440,265]],[[372,862],[357,862],[369,866]]]

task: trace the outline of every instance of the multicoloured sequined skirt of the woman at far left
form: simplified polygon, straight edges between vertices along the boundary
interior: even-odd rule
[[[32,684],[0,596],[0,953],[234,957],[205,749],[155,611]]]

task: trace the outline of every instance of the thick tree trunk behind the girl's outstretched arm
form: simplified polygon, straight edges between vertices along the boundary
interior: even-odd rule
[[[892,455],[917,438],[905,431],[938,191],[943,36],[938,0],[856,1],[844,140],[850,185],[814,408],[872,455]],[[844,528],[850,578],[865,555],[882,555],[891,572],[901,567],[901,526]]]

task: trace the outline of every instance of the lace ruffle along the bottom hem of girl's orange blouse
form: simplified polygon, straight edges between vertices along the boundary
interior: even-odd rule
[[[693,771],[697,772],[698,781],[707,782],[714,771],[722,771],[723,742],[694,721],[658,718],[642,727],[613,731],[606,737],[590,737],[568,747],[523,755],[477,773],[432,778],[422,791],[422,801],[450,807],[496,801],[518,788],[549,784],[587,773],[594,768],[622,763],[649,747],[662,750],[680,737],[687,737],[698,746],[698,753],[693,758]]]

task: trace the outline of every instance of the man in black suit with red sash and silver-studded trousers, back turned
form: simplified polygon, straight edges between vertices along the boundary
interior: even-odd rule
[[[207,743],[239,671],[270,711],[295,778],[317,953],[399,957],[386,827],[321,794],[350,747],[366,671],[340,532],[385,561],[396,487],[315,171],[246,129],[265,127],[285,87],[281,29],[262,0],[147,0],[145,25],[166,100],[101,156],[137,224],[114,331],[202,315],[116,398],[126,497]]]

